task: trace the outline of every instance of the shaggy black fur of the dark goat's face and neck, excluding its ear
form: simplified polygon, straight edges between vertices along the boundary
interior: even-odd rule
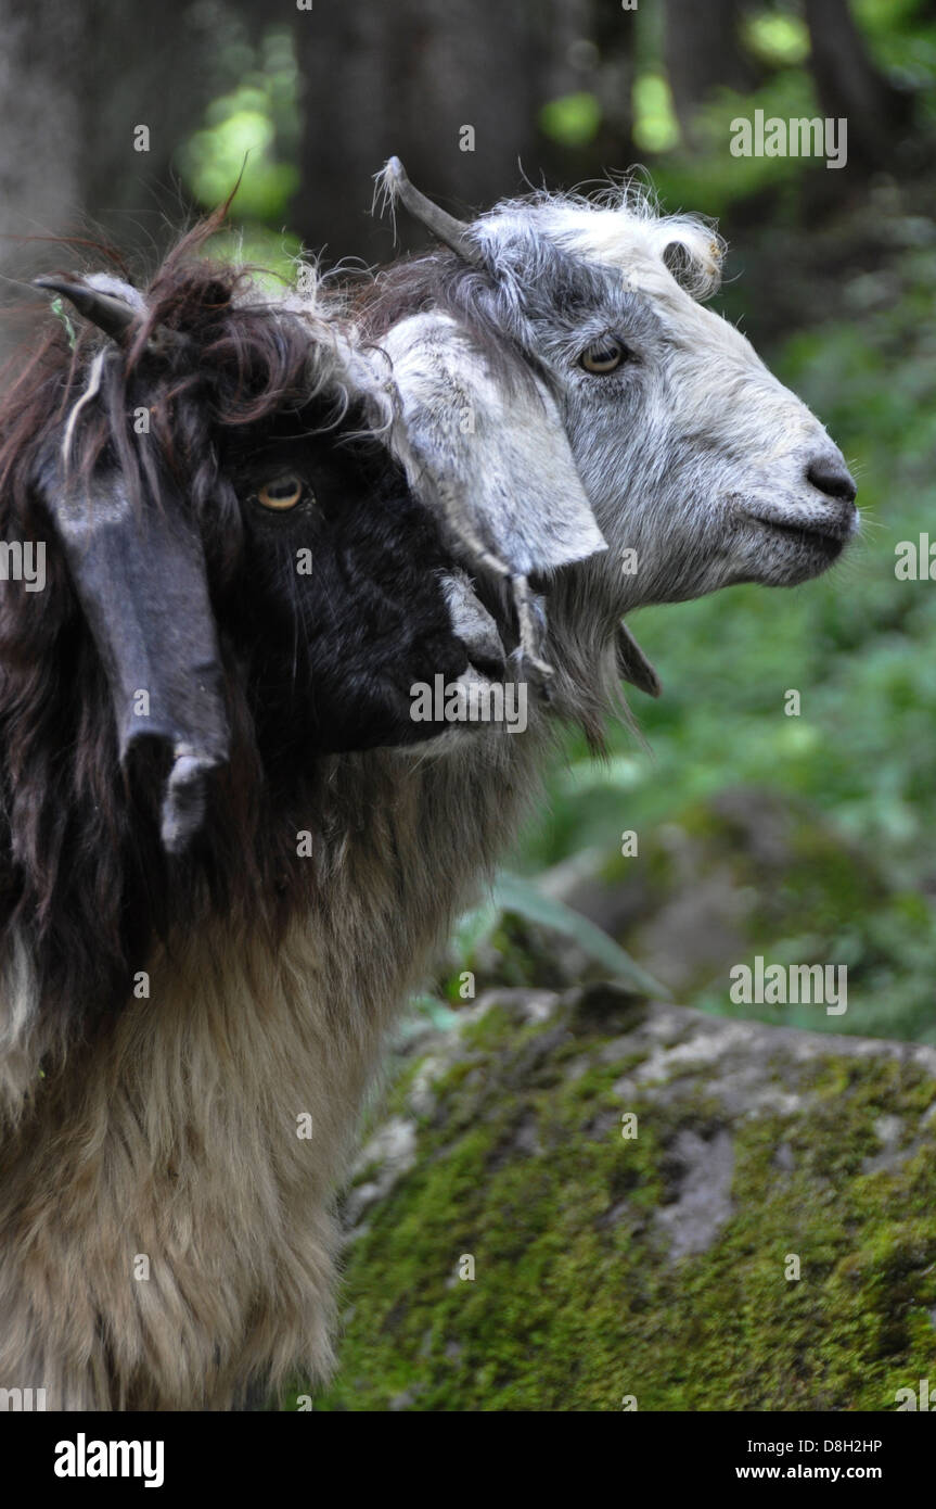
[[[430,513],[386,451],[356,438],[363,416],[327,388],[310,394],[303,318],[234,303],[240,275],[193,255],[213,228],[161,267],[133,346],[109,343],[72,463],[90,498],[119,475],[154,518],[181,499],[202,542],[231,736],[181,857],[160,842],[169,753],[142,741],[121,765],[106,665],[60,543],[63,426],[99,333],[83,329],[72,352],[48,320],[0,404],[0,539],[47,543],[44,592],[0,584],[0,946],[24,934],[53,1044],[127,997],[154,931],[199,927],[208,908],[276,931],[315,902],[297,833],[314,828],[324,756],[425,738],[410,685],[467,667]],[[185,341],[155,356],[160,324]],[[271,513],[256,493],[286,471],[303,478],[303,501]],[[312,573],[300,575],[306,548]],[[107,611],[119,634],[119,592]],[[158,667],[160,646],[148,649]]]

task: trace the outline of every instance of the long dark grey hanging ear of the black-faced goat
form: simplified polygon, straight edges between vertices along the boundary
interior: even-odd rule
[[[181,854],[202,825],[208,773],[228,759],[222,665],[199,536],[170,487],[128,496],[118,469],[42,492],[101,655],[125,764],[167,750],[163,847]]]

